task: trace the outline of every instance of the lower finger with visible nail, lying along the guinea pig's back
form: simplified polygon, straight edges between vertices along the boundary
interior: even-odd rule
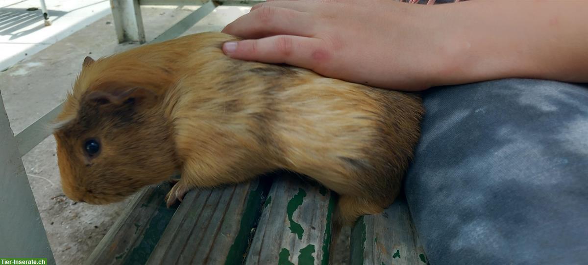
[[[290,35],[226,42],[223,51],[235,59],[283,63],[308,69],[322,68],[331,57],[321,39]]]

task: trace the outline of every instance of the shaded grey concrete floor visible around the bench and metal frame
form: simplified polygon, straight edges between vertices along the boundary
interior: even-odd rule
[[[142,6],[147,40],[155,38],[196,8]],[[186,34],[220,31],[248,11],[246,7],[219,6]],[[54,25],[58,22],[56,20]],[[106,15],[0,72],[0,90],[12,130],[18,134],[64,100],[87,55],[99,58],[136,46],[138,44],[118,44],[112,16]],[[74,203],[66,198],[59,183],[52,136],[26,154],[23,162],[56,263],[82,264],[130,198],[106,206]],[[339,240],[348,243],[348,236]],[[338,245],[345,246],[342,243]],[[340,255],[336,255],[338,258],[334,264],[346,264],[347,251],[343,249]]]

